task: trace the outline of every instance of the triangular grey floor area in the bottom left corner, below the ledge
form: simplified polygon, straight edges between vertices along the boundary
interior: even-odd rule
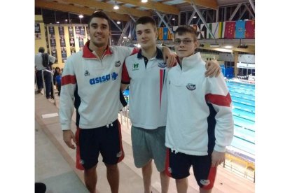
[[[35,181],[48,193],[88,192],[38,122],[35,122]]]

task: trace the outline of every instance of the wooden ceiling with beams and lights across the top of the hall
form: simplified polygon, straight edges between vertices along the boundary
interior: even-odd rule
[[[95,10],[104,10],[112,20],[129,21],[132,17],[153,16],[156,12],[179,15],[181,12],[193,10],[192,3],[198,9],[216,10],[223,6],[237,6],[238,3],[253,4],[253,2],[253,0],[149,0],[147,3],[141,3],[141,0],[35,0],[35,7],[50,10],[50,13],[44,13],[43,20],[46,23],[46,17],[51,17],[53,20],[48,23],[55,23],[57,12],[70,13],[67,17],[74,18],[74,15],[91,15]],[[118,10],[113,9],[116,4],[120,7]],[[39,10],[36,12],[41,14]]]

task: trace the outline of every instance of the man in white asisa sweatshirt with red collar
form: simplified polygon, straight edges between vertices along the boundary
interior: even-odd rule
[[[109,17],[102,11],[92,13],[88,22],[90,41],[83,50],[68,57],[62,73],[60,122],[64,142],[76,148],[76,168],[84,170],[85,185],[96,191],[99,153],[106,165],[111,192],[118,192],[118,162],[124,157],[118,111],[120,77],[125,57],[138,49],[109,46]],[[169,63],[174,55],[167,49]],[[71,117],[76,108],[76,134]],[[76,143],[75,145],[72,143]]]

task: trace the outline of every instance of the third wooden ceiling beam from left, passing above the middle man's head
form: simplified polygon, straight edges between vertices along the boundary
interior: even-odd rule
[[[156,10],[158,12],[163,12],[163,13],[170,13],[174,15],[179,14],[179,9],[176,8],[175,6],[169,6],[164,3],[158,3],[154,1],[148,1],[147,3],[141,3],[141,1],[136,1],[136,0],[119,0],[118,2],[122,3],[129,3],[134,6],[140,6],[144,8],[149,8],[151,10]]]

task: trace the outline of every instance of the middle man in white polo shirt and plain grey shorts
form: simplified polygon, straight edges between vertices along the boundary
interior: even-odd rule
[[[134,164],[142,169],[144,192],[151,192],[152,159],[160,172],[161,192],[168,192],[165,174],[165,124],[167,64],[156,47],[158,31],[152,17],[136,21],[138,53],[127,57],[123,65],[123,90],[130,84],[130,120]],[[219,64],[210,62],[212,75],[219,74]],[[205,76],[205,74],[203,74]]]

